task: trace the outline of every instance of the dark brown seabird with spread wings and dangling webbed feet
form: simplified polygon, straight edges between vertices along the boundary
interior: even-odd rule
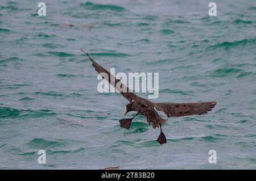
[[[160,135],[156,141],[158,141],[159,144],[161,145],[166,143],[166,136],[162,132],[162,125],[166,122],[166,120],[160,117],[158,115],[158,112],[156,112],[156,110],[166,113],[167,117],[202,115],[204,113],[207,113],[208,111],[211,111],[212,108],[217,103],[216,101],[197,102],[197,103],[154,103],[154,102],[151,102],[150,100],[147,100],[147,99],[141,98],[138,95],[135,95],[122,82],[120,87],[122,88],[122,90],[126,90],[126,91],[119,90],[118,86],[115,86],[115,85],[117,85],[117,83],[120,82],[120,80],[116,79],[114,75],[109,73],[109,71],[102,68],[102,66],[100,66],[96,61],[94,61],[87,52],[85,52],[82,49],[81,51],[84,52],[86,56],[89,57],[90,61],[92,61],[92,65],[94,66],[95,70],[99,74],[100,73],[108,74],[107,80],[109,81],[110,85],[114,86],[118,92],[120,92],[127,100],[129,100],[130,103],[126,105],[126,110],[123,113],[124,116],[126,115],[127,112],[136,111],[137,114],[135,116],[141,113],[144,117],[146,117],[147,123],[149,125],[152,124],[153,128],[160,127]],[[131,120],[133,120],[135,116],[129,119],[119,120],[121,127],[129,129],[131,126]]]

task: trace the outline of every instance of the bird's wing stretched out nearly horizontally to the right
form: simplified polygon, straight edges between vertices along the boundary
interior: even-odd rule
[[[167,117],[188,115],[203,115],[216,105],[216,101],[202,103],[154,103],[158,111],[166,113]]]

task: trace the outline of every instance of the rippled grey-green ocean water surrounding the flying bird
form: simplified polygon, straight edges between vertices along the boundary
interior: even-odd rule
[[[203,0],[44,2],[41,17],[37,1],[0,3],[0,169],[256,169],[254,0],[214,1],[217,16]],[[97,91],[79,48],[108,70],[158,72],[154,102],[218,103],[160,113],[159,145],[142,116],[119,126],[127,100]]]

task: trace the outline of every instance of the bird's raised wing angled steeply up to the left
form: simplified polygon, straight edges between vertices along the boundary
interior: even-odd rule
[[[108,75],[108,78],[102,76],[102,78],[106,79],[106,81],[108,81],[110,83],[110,85],[112,85],[113,87],[115,87],[115,90],[117,90],[118,92],[120,92],[127,100],[129,100],[129,102],[133,102],[133,100],[136,100],[137,98],[139,98],[139,96],[135,95],[126,85],[124,85],[119,79],[116,79],[114,77],[114,75],[110,74],[110,72],[106,69],[104,69],[100,64],[98,64],[96,61],[93,60],[93,58],[91,58],[89,56],[89,54],[87,52],[85,52],[83,49],[80,49],[82,52],[84,52],[84,54],[86,54],[86,56],[89,57],[90,61],[92,62],[93,67],[95,68],[95,70],[100,74],[100,73],[105,73]],[[119,86],[115,86],[117,85],[118,82],[121,82],[121,84]],[[121,89],[120,89],[121,87]]]

